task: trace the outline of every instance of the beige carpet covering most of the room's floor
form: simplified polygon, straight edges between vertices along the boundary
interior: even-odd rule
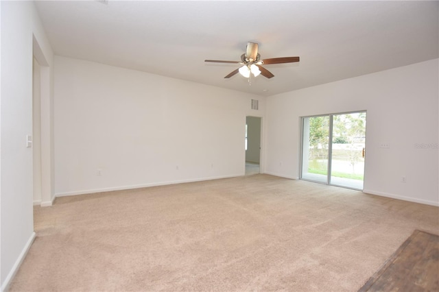
[[[270,175],[62,197],[10,291],[357,291],[439,208]]]

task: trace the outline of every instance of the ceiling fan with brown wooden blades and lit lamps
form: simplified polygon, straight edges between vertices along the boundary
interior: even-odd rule
[[[241,64],[240,68],[226,75],[224,78],[230,78],[233,75],[240,73],[246,78],[250,78],[250,73],[256,77],[259,74],[267,78],[274,77],[273,73],[265,69],[263,64],[282,64],[282,63],[292,63],[299,62],[299,57],[283,57],[283,58],[270,58],[261,60],[261,55],[258,53],[258,44],[256,42],[248,42],[246,53],[241,55],[241,61],[222,61],[222,60],[204,60],[204,62],[215,62],[215,63],[232,63]]]

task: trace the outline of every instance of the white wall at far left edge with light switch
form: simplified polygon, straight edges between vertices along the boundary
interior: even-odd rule
[[[52,52],[34,3],[1,5],[1,290],[34,239],[32,212],[33,37],[50,63]],[[49,97],[47,97],[49,99]]]

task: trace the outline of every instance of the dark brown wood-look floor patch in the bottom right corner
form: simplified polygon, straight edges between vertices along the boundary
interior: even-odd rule
[[[439,236],[415,230],[359,291],[439,291]]]

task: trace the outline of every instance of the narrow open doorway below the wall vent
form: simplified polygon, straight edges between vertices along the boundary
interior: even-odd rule
[[[261,118],[246,117],[246,175],[261,172]]]

